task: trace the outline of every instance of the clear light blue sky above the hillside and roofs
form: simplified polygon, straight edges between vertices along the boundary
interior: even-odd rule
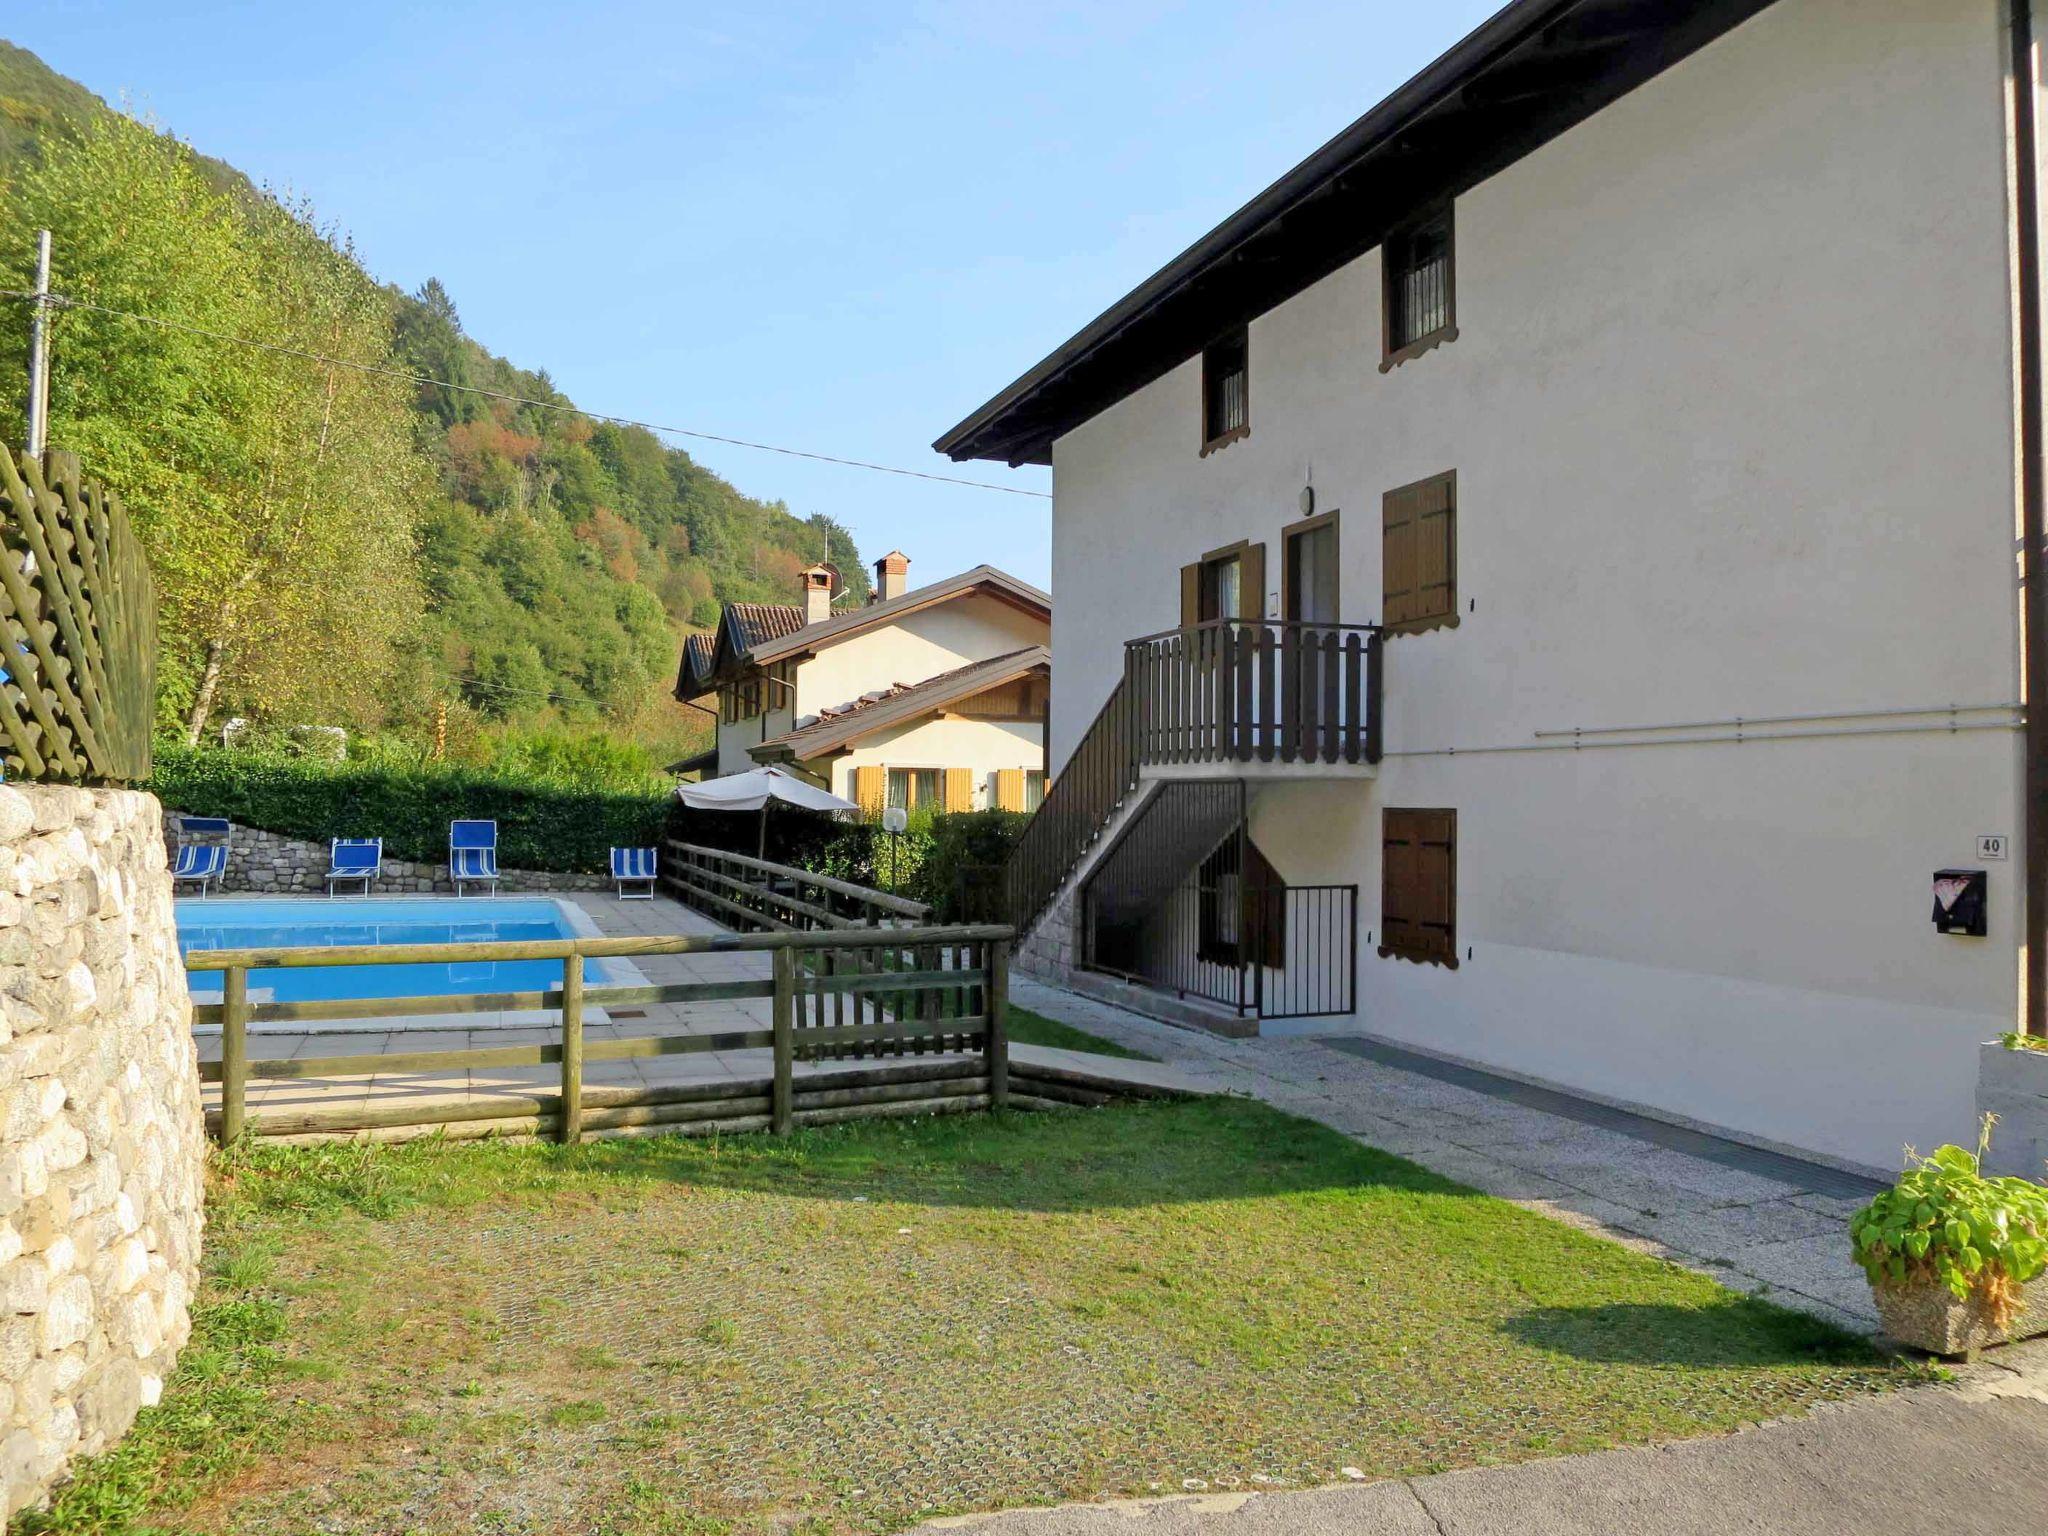
[[[344,6],[74,0],[10,41],[313,199],[580,406],[930,451],[1495,0]],[[61,252],[59,252],[61,262]],[[1049,504],[684,442],[911,582],[1034,582]]]

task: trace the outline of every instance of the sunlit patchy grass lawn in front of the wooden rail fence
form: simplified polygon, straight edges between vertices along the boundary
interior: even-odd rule
[[[889,1532],[1706,1434],[1909,1374],[1245,1100],[219,1161],[160,1407],[16,1530]]]

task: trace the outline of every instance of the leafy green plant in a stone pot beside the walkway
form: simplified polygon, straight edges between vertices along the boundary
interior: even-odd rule
[[[2048,1188],[1985,1178],[1976,1153],[1907,1151],[1898,1182],[1849,1221],[1884,1331],[1929,1354],[2048,1333]]]

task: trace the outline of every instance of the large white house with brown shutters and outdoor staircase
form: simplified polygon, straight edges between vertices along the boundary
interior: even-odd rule
[[[1020,963],[1970,1143],[2048,963],[2030,27],[1516,0],[942,436],[1055,469]]]

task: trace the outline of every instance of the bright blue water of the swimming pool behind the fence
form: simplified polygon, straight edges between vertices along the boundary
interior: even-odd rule
[[[555,901],[496,897],[221,901],[186,897],[178,952],[305,944],[471,944],[512,938],[575,938]],[[580,913],[578,913],[580,915]],[[594,930],[584,930],[594,936]],[[616,961],[586,961],[592,983],[625,981]],[[307,997],[449,997],[479,991],[543,991],[561,985],[561,961],[463,961],[457,965],[336,965],[250,971],[250,1001]],[[193,977],[193,995],[219,1001],[221,973]]]

